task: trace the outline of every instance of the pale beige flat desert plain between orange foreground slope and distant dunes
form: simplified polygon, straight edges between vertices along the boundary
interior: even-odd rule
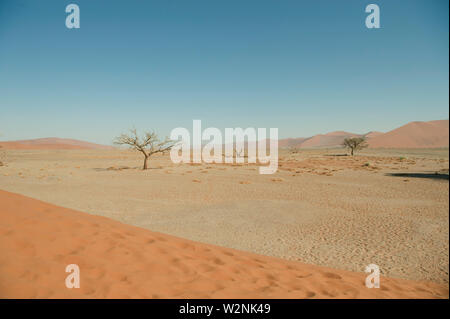
[[[3,190],[197,242],[448,285],[448,150],[282,151],[274,175],[167,156],[144,172],[126,151],[6,152]]]

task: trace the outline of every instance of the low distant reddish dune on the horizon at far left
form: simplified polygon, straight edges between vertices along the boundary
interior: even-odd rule
[[[67,138],[38,138],[32,140],[20,140],[0,142],[5,149],[113,149],[112,146],[89,143]]]

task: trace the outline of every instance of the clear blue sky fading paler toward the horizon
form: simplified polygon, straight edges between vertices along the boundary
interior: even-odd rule
[[[81,28],[65,26],[76,3]],[[378,4],[381,29],[365,26]],[[0,139],[448,119],[448,0],[0,0]]]

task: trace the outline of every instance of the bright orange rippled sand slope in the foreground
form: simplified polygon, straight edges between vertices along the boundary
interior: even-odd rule
[[[0,191],[1,298],[448,298],[448,287],[184,240]],[[69,264],[80,288],[68,289]]]

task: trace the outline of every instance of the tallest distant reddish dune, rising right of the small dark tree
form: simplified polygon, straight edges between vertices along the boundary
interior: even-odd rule
[[[368,140],[374,148],[449,147],[448,120],[411,122]]]

